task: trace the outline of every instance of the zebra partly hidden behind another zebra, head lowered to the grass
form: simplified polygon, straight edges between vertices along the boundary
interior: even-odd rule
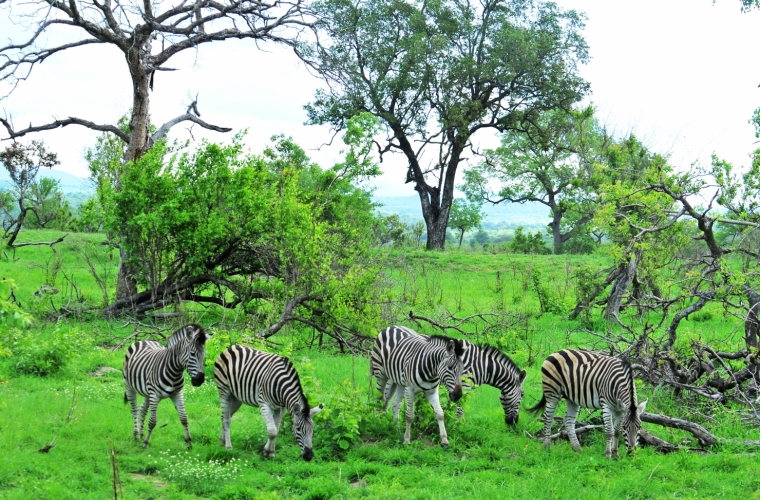
[[[408,328],[399,330],[400,335],[417,335],[426,338]],[[479,346],[467,340],[462,341],[466,347],[462,357],[463,373],[474,384],[486,384],[496,387],[501,391],[499,401],[504,409],[504,422],[507,425],[516,425],[520,417],[520,402],[523,398],[522,383],[525,380],[525,370],[517,367],[514,361],[495,347]],[[384,395],[391,394],[395,388],[393,382],[388,382]],[[386,399],[386,406],[387,406]],[[461,418],[464,410],[457,406],[457,418]]]

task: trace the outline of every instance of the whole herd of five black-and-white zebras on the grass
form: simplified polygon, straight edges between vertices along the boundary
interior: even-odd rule
[[[187,371],[193,386],[204,381],[205,343],[209,338],[203,327],[185,325],[167,340],[166,347],[151,340],[138,341],[128,349],[124,360],[124,402],[129,402],[134,421],[134,438],[142,439],[145,416],[150,408],[147,447],[156,426],[156,411],[162,399],[174,403],[185,431],[185,442],[192,447],[187,426],[182,387]],[[414,397],[422,392],[435,411],[441,445],[448,447],[443,409],[438,387],[443,384],[449,398],[456,402],[462,396],[462,377],[472,383],[487,384],[501,391],[504,421],[518,421],[523,398],[525,370],[498,349],[478,346],[466,340],[441,335],[424,336],[410,328],[391,326],[378,334],[370,359],[371,375],[382,393],[385,410],[393,401],[393,417],[398,419],[401,401],[406,398],[406,431],[404,443],[410,442],[414,419]],[[629,452],[636,447],[641,429],[641,414],[646,401],[639,404],[630,364],[625,360],[584,350],[564,349],[551,354],[541,367],[543,397],[529,411],[544,410],[544,445],[551,445],[551,425],[558,403],[567,401],[565,428],[575,451],[580,443],[575,433],[575,420],[580,408],[601,408],[607,437],[606,455],[618,458],[618,437],[625,433]],[[291,415],[293,435],[301,448],[301,457],[314,457],[312,417],[324,407],[311,408],[301,387],[298,372],[282,356],[233,345],[224,350],[214,363],[214,379],[219,390],[222,410],[220,443],[232,449],[230,419],[243,403],[261,410],[267,427],[268,441],[264,455],[273,457],[275,440],[285,411]],[[138,408],[137,395],[144,396]],[[462,409],[458,409],[461,416]]]

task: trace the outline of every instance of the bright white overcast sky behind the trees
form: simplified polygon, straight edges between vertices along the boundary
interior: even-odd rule
[[[670,154],[681,169],[708,163],[713,153],[737,166],[749,163],[757,138],[748,120],[760,107],[760,11],[742,14],[739,0],[556,3],[587,17],[584,35],[591,60],[580,72],[591,84],[589,102],[610,130],[635,133],[653,150]],[[10,23],[5,10],[0,14],[0,42],[28,35]],[[197,95],[201,117],[234,130],[247,128],[252,151],[263,149],[273,134],[285,134],[321,165],[339,161],[339,146],[325,146],[331,131],[305,124],[303,106],[320,81],[292,51],[227,41],[185,52],[166,66],[180,71],[156,76],[151,95],[155,123],[183,114]],[[0,100],[0,113],[11,116],[16,128],[68,116],[115,123],[130,104],[131,84],[121,53],[106,46],[84,47],[36,67]],[[187,128],[180,124],[172,137],[225,141],[230,136]],[[69,126],[34,138],[58,153],[60,170],[86,177],[84,151],[96,137],[94,131]],[[484,134],[475,140],[489,145],[495,139]],[[381,167],[376,195],[415,194],[411,184],[404,184],[401,158]]]

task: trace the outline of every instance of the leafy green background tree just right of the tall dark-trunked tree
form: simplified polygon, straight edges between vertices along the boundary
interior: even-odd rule
[[[486,150],[485,160],[465,172],[463,189],[469,198],[493,204],[546,205],[558,254],[593,218],[594,155],[605,142],[593,108],[549,111],[525,132],[505,132],[501,146]],[[492,189],[495,184],[500,186],[497,192]]]

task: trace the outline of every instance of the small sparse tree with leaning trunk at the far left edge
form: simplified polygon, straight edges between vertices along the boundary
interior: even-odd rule
[[[26,145],[14,141],[0,151],[0,163],[8,171],[13,183],[13,188],[2,197],[0,205],[5,230],[3,237],[8,238],[6,246],[13,248],[20,246],[14,243],[29,212],[34,213],[38,221],[47,220],[42,206],[44,198],[35,197],[35,193],[39,194],[41,190],[36,182],[37,172],[40,168],[58,165],[59,161],[58,156],[48,151],[41,141],[32,141]],[[18,212],[15,211],[14,204],[18,207]]]

